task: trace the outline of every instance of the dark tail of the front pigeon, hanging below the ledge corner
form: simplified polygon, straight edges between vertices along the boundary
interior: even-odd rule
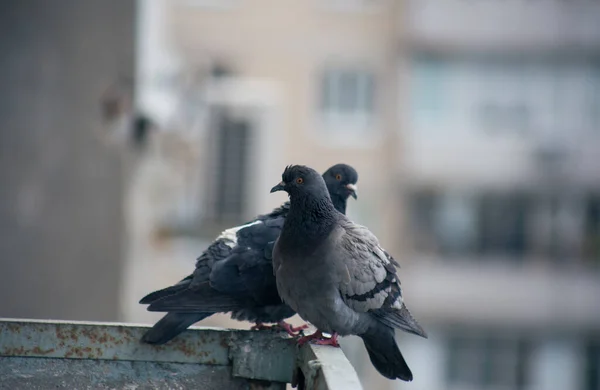
[[[412,381],[412,372],[404,360],[394,338],[394,330],[387,326],[371,328],[361,334],[369,358],[381,375],[388,379]]]

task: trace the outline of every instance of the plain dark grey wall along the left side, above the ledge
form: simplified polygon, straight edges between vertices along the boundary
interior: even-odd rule
[[[0,2],[0,317],[118,319],[124,169],[97,133],[134,5]]]

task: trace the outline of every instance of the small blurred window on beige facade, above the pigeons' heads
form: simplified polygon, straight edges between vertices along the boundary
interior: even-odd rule
[[[321,111],[327,124],[369,126],[374,111],[374,77],[357,70],[328,70],[321,80]]]

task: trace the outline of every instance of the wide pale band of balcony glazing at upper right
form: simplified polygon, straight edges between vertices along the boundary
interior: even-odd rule
[[[600,132],[597,62],[418,53],[410,80],[416,131]]]

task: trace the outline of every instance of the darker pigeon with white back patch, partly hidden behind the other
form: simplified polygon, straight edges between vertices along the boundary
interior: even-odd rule
[[[346,212],[349,196],[357,198],[358,174],[346,164],[329,168],[323,179],[336,209]],[[148,344],[164,344],[191,325],[214,313],[231,312],[253,329],[277,323],[290,335],[294,328],[283,320],[295,314],[282,303],[273,275],[272,251],[289,211],[289,202],[242,226],[225,230],[196,260],[194,273],[174,286],[141,299],[149,311],[168,312],[142,337]]]

